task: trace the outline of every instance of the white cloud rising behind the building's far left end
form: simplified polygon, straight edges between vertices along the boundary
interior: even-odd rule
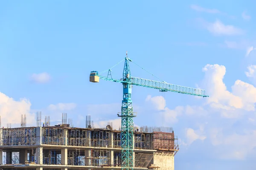
[[[6,123],[12,123],[12,127],[14,127],[13,124],[20,125],[21,114],[26,114],[26,123],[27,125],[31,125],[35,122],[35,115],[30,113],[30,107],[31,103],[27,99],[15,101],[9,96],[6,96],[6,94],[0,93],[0,116],[2,126],[6,127]]]

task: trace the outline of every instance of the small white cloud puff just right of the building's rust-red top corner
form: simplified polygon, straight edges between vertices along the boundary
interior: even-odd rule
[[[186,139],[187,139],[187,145],[192,144],[192,142],[194,142],[195,140],[204,140],[206,139],[206,136],[203,135],[203,129],[199,129],[199,130],[194,130],[192,128],[187,128],[186,129]]]

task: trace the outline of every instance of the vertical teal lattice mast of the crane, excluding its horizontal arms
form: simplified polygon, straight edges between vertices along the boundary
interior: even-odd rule
[[[127,52],[123,71],[123,100],[121,108],[121,159],[122,170],[133,170],[133,107],[131,100],[131,71]]]

